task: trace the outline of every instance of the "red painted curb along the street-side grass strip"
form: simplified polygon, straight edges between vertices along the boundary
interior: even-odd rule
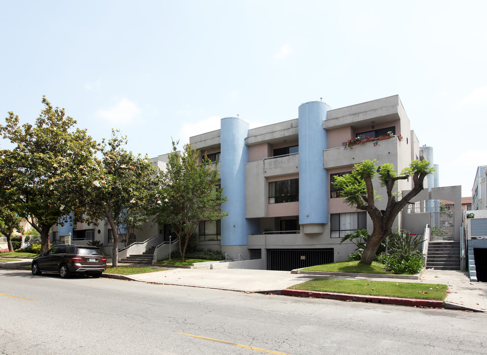
[[[403,306],[444,308],[443,301],[420,300],[420,299],[412,299],[412,298],[354,295],[354,294],[347,294],[347,293],[332,293],[332,292],[319,292],[319,291],[301,291],[301,290],[294,290],[294,289],[283,289],[281,291],[281,294],[287,296],[330,298],[330,299],[337,299],[337,300],[352,300],[357,302],[396,304],[396,305],[403,305]]]

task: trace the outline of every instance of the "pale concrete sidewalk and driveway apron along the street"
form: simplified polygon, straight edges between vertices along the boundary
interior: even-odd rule
[[[31,261],[31,259],[24,259],[17,262],[0,262],[0,267],[29,270],[29,267],[22,267],[20,264],[30,263]],[[104,273],[103,277],[113,276]],[[461,271],[426,270],[419,280],[405,280],[397,278],[365,278],[361,276],[301,275],[291,274],[288,271],[171,268],[164,271],[118,278],[156,284],[218,288],[243,292],[280,293],[285,288],[316,277],[446,284],[448,285],[449,293],[445,299],[445,307],[487,312],[487,286],[480,282],[470,282],[468,274]],[[302,295],[309,297],[306,292],[302,291]]]

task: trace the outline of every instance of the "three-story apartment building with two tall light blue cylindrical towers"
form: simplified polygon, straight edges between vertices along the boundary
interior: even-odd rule
[[[227,117],[220,130],[189,142],[220,160],[228,199],[222,205],[228,216],[200,228],[200,245],[221,248],[233,259],[265,259],[270,270],[289,269],[290,260],[300,260],[292,267],[344,261],[355,246],[340,245],[341,238],[372,231],[367,213],[339,197],[332,184],[337,175],[365,159],[401,171],[414,159],[432,158],[429,147],[420,148],[397,95],[337,109],[307,102],[297,119],[255,129]],[[425,186],[434,183],[432,175]],[[400,180],[395,192],[411,188],[411,179]],[[378,181],[375,189],[381,194]],[[402,227],[401,215],[396,226]]]

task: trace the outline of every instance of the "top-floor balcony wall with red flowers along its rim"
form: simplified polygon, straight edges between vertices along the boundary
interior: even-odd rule
[[[325,149],[323,150],[323,168],[331,169],[350,166],[366,159],[377,159],[379,164],[397,162],[401,147],[407,149],[407,152],[411,154],[409,148],[406,147],[406,142],[401,142],[397,136],[352,144],[346,149],[343,146]]]

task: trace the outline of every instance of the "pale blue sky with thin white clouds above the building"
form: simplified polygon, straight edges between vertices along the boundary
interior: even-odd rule
[[[487,164],[487,1],[0,0],[0,112],[42,95],[97,141],[150,157],[171,137],[398,94],[440,184]],[[3,147],[6,146],[2,142]]]

